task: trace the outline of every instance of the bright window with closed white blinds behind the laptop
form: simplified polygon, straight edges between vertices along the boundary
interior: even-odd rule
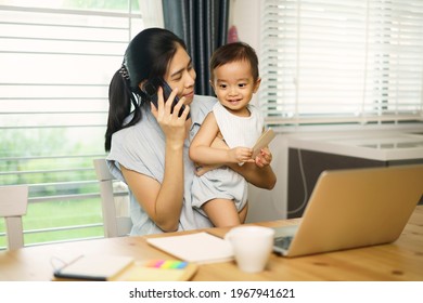
[[[423,120],[423,1],[265,0],[269,124]]]

